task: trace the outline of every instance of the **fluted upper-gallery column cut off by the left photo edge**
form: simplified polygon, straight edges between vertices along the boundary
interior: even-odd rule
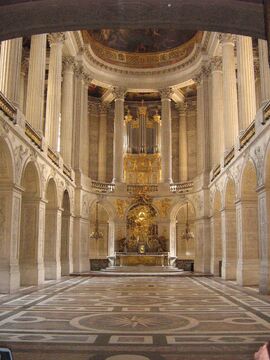
[[[0,91],[19,106],[22,38],[2,41],[0,54]]]

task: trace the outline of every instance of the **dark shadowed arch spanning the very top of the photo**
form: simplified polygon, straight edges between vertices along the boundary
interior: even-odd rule
[[[54,31],[156,27],[264,38],[263,1],[0,0],[0,40]]]

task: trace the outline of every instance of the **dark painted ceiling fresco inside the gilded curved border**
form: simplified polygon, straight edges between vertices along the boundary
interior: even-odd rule
[[[176,48],[196,32],[175,29],[101,29],[88,33],[104,46],[125,52],[160,52]]]

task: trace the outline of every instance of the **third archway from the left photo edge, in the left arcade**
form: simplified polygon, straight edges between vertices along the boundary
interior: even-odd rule
[[[44,265],[45,279],[60,278],[60,239],[61,211],[58,206],[57,185],[54,178],[49,178],[45,191],[45,239],[44,239]]]

